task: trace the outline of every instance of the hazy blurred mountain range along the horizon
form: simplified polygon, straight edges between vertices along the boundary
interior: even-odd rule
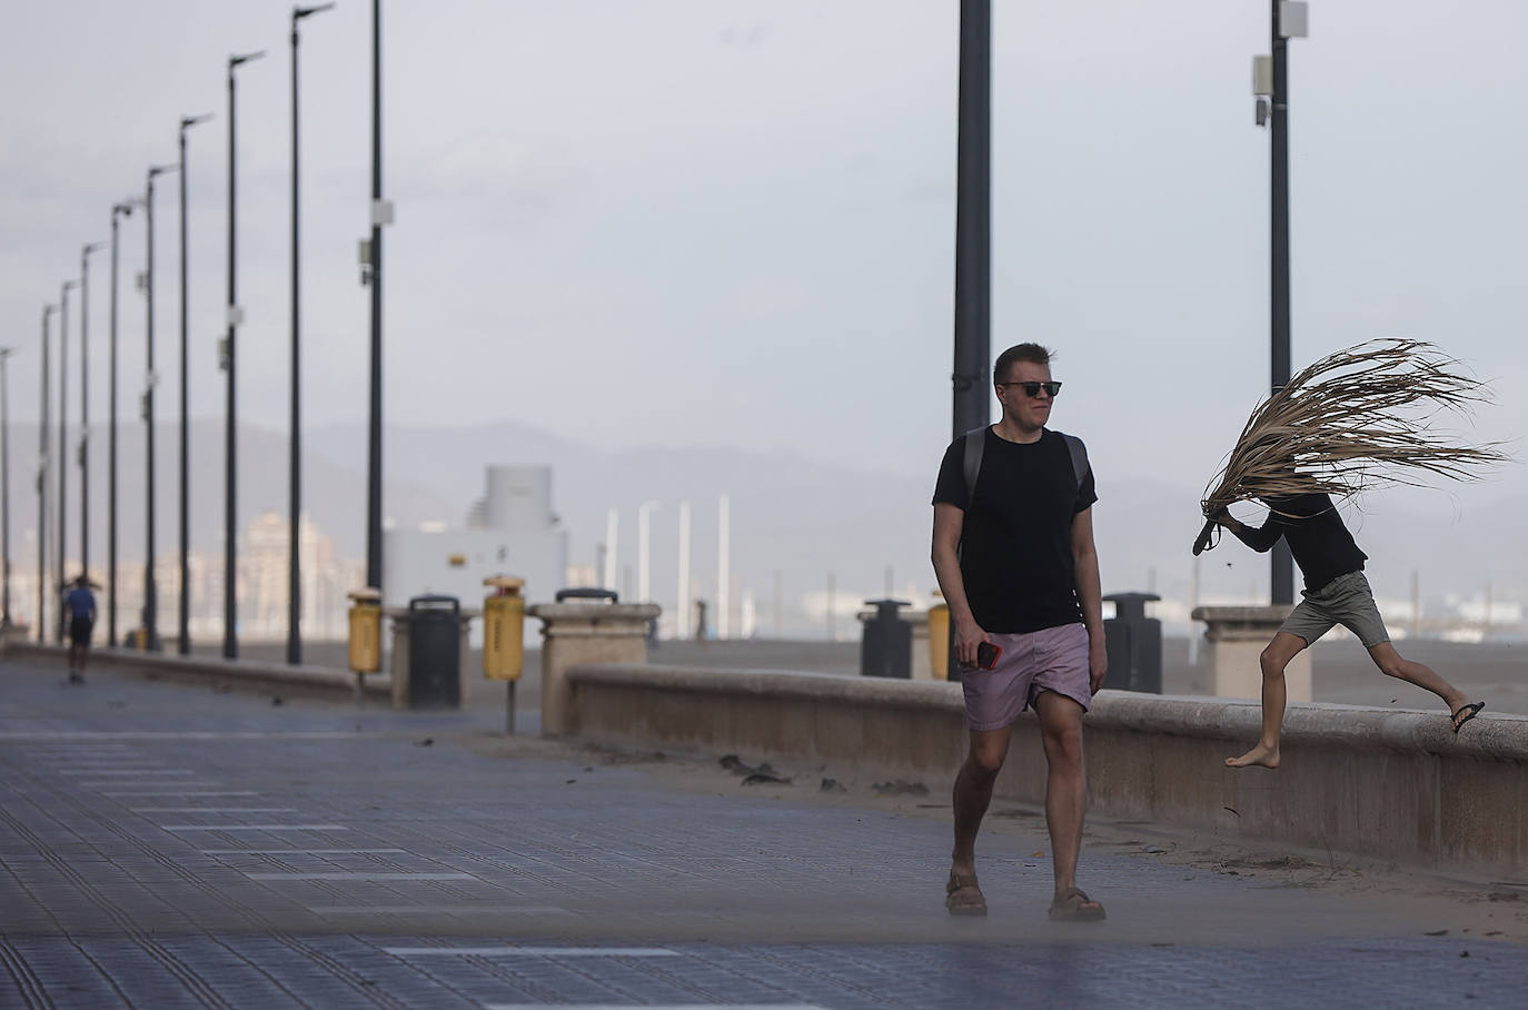
[[[156,429],[157,545],[173,555],[179,523],[179,428]],[[141,425],[119,428],[119,558],[142,556],[144,439]],[[57,432],[53,432],[57,443]],[[197,422],[189,432],[191,544],[219,552],[223,542],[223,426]],[[11,426],[12,564],[35,559],[37,426]],[[107,437],[92,435],[92,561],[105,559]],[[304,439],[304,510],[336,541],[339,553],[364,556],[365,429],[319,428]],[[579,445],[542,429],[498,423],[471,428],[399,425],[385,443],[385,515],[397,526],[445,521],[460,526],[483,494],[489,465],[550,466],[553,509],[568,530],[570,564],[594,565],[605,539],[607,515],[616,509],[617,588],[634,591],[637,506],[652,512],[652,594],[672,604],[677,582],[678,504],[692,510],[694,594],[714,599],[717,588],[718,497],[730,498],[733,607],[752,596],[761,633],[775,626],[781,600],[782,631],[808,631],[827,620],[830,579],[839,631],[863,599],[888,591],[926,602],[934,588],[929,553],[929,498],[938,460],[927,477],[866,472],[853,463],[824,466],[779,452],[724,446],[640,448],[608,451]],[[278,432],[241,428],[238,434],[238,518],[287,509],[287,440]],[[1461,506],[1445,492],[1368,495],[1345,507],[1349,526],[1369,553],[1369,573],[1381,597],[1409,599],[1412,573],[1429,608],[1481,596],[1528,602],[1522,516],[1528,495],[1491,498],[1475,489]],[[78,556],[79,471],[69,474],[70,558]],[[1094,509],[1105,593],[1152,590],[1187,600],[1193,579],[1189,544],[1199,529],[1198,487],[1099,475]],[[1256,510],[1250,509],[1250,520]],[[1198,568],[1201,600],[1262,599],[1268,564],[1235,539],[1204,555]],[[558,587],[530,587],[542,597]],[[1166,614],[1164,614],[1166,616]]]

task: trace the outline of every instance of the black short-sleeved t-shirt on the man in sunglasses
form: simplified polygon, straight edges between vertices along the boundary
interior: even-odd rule
[[[960,568],[972,616],[995,634],[1079,623],[1071,521],[1099,500],[1093,468],[1079,487],[1071,451],[1056,431],[1019,443],[989,428],[986,439],[975,501],[966,501],[964,435],[944,452],[934,486],[934,504],[966,513]]]

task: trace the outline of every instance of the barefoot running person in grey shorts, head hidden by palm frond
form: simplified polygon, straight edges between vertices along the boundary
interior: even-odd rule
[[[1432,691],[1453,714],[1453,732],[1475,718],[1484,701],[1470,698],[1430,668],[1401,657],[1390,645],[1390,636],[1380,619],[1369,579],[1363,575],[1368,559],[1352,533],[1337,515],[1328,495],[1306,494],[1270,498],[1268,520],[1258,529],[1236,521],[1224,509],[1212,516],[1236,539],[1264,553],[1284,538],[1294,555],[1294,564],[1305,576],[1305,599],[1290,613],[1262,651],[1262,736],[1239,758],[1225,758],[1227,767],[1279,767],[1279,729],[1284,724],[1284,668],[1300,649],[1342,625],[1358,636],[1381,672]]]

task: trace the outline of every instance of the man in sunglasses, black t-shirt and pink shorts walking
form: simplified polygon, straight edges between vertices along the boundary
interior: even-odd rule
[[[1082,715],[1108,669],[1093,469],[1079,439],[1045,428],[1060,384],[1051,353],[1018,344],[998,356],[1002,420],[963,435],[934,490],[934,573],[950,608],[966,692],[970,750],[955,778],[955,850],[946,885],[952,915],[986,915],[976,833],[1028,707],[1045,746],[1045,824],[1056,894],[1051,918],[1099,920],[1077,888],[1086,805]],[[979,663],[979,668],[978,668]]]

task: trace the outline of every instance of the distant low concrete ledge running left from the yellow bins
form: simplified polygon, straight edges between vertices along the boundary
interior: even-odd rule
[[[6,656],[41,663],[64,663],[64,646],[38,642],[6,643]],[[174,677],[193,683],[235,683],[249,688],[280,686],[289,691],[304,691],[322,695],[356,697],[356,675],[348,669],[332,666],[289,666],[286,663],[258,663],[252,660],[225,660],[203,656],[176,656],[171,652],[142,652],[138,649],[90,649],[90,669],[112,669],[127,674]],[[387,674],[367,674],[365,697],[390,700],[391,678]]]

